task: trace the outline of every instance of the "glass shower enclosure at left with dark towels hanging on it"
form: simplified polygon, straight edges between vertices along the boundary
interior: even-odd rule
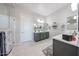
[[[14,45],[14,7],[10,5],[0,4],[0,56],[9,55]]]

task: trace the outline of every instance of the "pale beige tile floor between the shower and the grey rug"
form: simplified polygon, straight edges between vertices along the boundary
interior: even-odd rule
[[[16,45],[9,56],[45,56],[43,49],[52,44],[52,39],[46,39],[39,42],[24,42]]]

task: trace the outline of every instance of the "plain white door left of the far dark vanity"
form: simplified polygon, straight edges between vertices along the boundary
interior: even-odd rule
[[[21,15],[21,42],[33,41],[33,22],[31,17]]]

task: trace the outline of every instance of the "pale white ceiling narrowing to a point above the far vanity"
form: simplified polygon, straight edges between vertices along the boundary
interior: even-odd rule
[[[48,16],[51,13],[54,13],[57,10],[70,4],[69,3],[19,3],[16,5],[23,7],[25,9],[29,9],[42,16]]]

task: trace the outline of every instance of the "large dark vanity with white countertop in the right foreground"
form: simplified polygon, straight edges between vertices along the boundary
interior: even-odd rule
[[[53,56],[78,56],[78,38],[75,41],[62,39],[62,34],[53,37]]]

